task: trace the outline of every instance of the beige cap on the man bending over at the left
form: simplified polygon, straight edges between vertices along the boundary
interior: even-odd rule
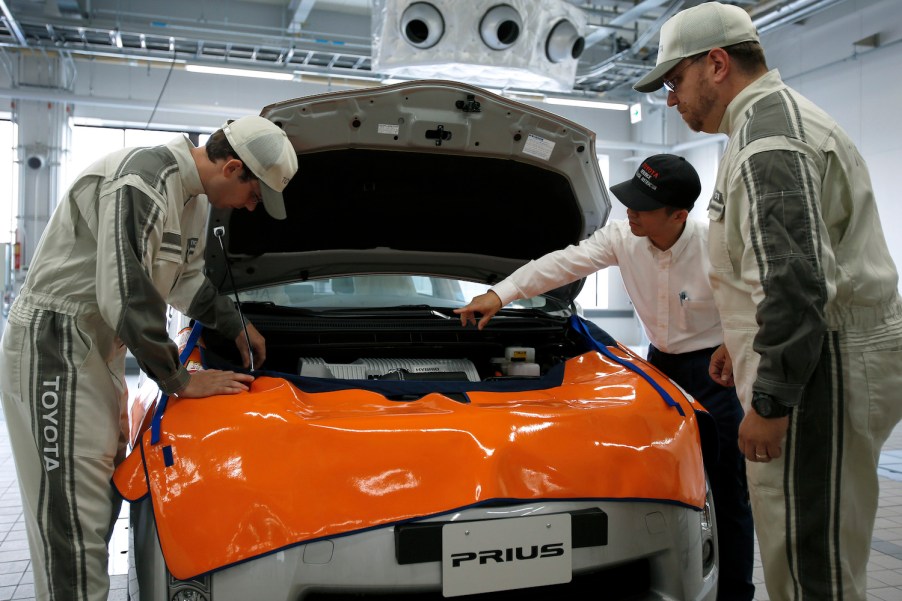
[[[298,170],[298,156],[281,127],[256,115],[222,126],[238,158],[260,180],[263,206],[273,219],[285,219],[282,190]]]

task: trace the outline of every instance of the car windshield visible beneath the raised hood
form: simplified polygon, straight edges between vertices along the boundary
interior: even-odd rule
[[[419,275],[355,275],[293,282],[239,293],[241,302],[308,309],[423,306],[456,308],[489,289],[486,284]],[[509,309],[560,311],[566,307],[544,296],[515,301]]]

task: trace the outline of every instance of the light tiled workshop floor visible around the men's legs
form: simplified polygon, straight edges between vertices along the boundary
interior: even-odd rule
[[[129,388],[135,390],[137,387],[130,382]],[[879,472],[880,509],[871,543],[868,599],[902,601],[902,425],[896,428],[884,448]],[[127,505],[123,509],[110,544],[110,601],[127,599]],[[760,561],[756,559],[755,565],[760,566]],[[760,567],[756,567],[756,601],[769,599],[761,582]],[[0,601],[33,601],[34,598],[19,486],[6,420],[0,410]]]

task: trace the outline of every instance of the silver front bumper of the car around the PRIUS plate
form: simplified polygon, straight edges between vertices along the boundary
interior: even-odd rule
[[[150,503],[144,500],[134,503],[131,511],[135,577],[130,579],[130,592],[140,592],[140,598],[149,601],[297,601],[334,599],[343,594],[411,594],[424,599],[430,598],[429,593],[440,599],[443,568],[435,556],[434,538],[440,529],[429,528],[429,524],[560,513],[576,516],[571,522],[573,581],[556,588],[522,589],[518,599],[539,590],[544,598],[560,593],[578,599],[582,598],[580,589],[591,589],[597,597],[600,586],[606,591],[606,599],[715,599],[713,514],[674,504],[622,501],[470,508],[411,523],[425,528],[422,536],[403,534],[405,526],[411,524],[376,528],[300,544],[182,581],[166,570]],[[587,515],[596,517],[588,521],[579,517]],[[603,526],[599,515],[604,516]],[[510,588],[517,586],[512,583]],[[468,598],[495,598],[492,595]]]

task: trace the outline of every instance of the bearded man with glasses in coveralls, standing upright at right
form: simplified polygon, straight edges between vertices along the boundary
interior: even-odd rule
[[[661,29],[655,68],[695,131],[729,136],[709,258],[739,446],[773,601],[866,598],[877,461],[902,402],[902,299],[864,160],[768,71],[744,10],[707,2]],[[732,359],[732,361],[731,361]]]

